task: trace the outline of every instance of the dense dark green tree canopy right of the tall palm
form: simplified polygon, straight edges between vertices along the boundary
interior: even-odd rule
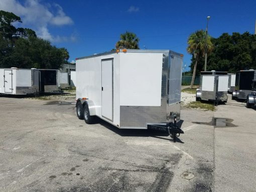
[[[218,38],[212,38],[213,51],[208,55],[207,70],[227,71],[235,73],[239,70],[256,69],[256,36],[245,32],[223,33]],[[191,59],[191,71],[196,63]],[[199,75],[204,67],[204,57],[200,56],[196,73]]]

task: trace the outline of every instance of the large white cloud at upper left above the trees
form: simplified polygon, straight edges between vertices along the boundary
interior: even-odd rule
[[[66,16],[62,7],[58,4],[43,5],[39,0],[26,0],[21,4],[18,0],[1,0],[0,10],[13,12],[21,17],[23,25],[36,31],[37,36],[51,42],[74,41],[74,37],[52,36],[48,30],[49,25],[72,25],[73,21]],[[23,26],[23,27],[24,27]]]

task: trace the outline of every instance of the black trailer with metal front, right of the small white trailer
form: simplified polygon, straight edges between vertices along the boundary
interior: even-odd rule
[[[250,69],[236,72],[232,99],[246,99],[247,95],[251,93],[253,79],[256,79],[256,70]]]

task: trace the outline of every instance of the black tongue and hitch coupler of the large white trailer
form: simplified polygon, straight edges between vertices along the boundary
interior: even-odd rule
[[[168,132],[173,138],[173,142],[176,142],[176,137],[179,137],[180,134],[184,133],[184,131],[177,125],[176,117],[174,117],[174,122],[169,122],[163,125],[148,125],[148,129]]]

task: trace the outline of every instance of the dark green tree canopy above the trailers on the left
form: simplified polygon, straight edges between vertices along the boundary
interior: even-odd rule
[[[67,49],[52,46],[32,29],[14,27],[15,22],[21,18],[0,11],[0,67],[59,69],[67,62]]]

